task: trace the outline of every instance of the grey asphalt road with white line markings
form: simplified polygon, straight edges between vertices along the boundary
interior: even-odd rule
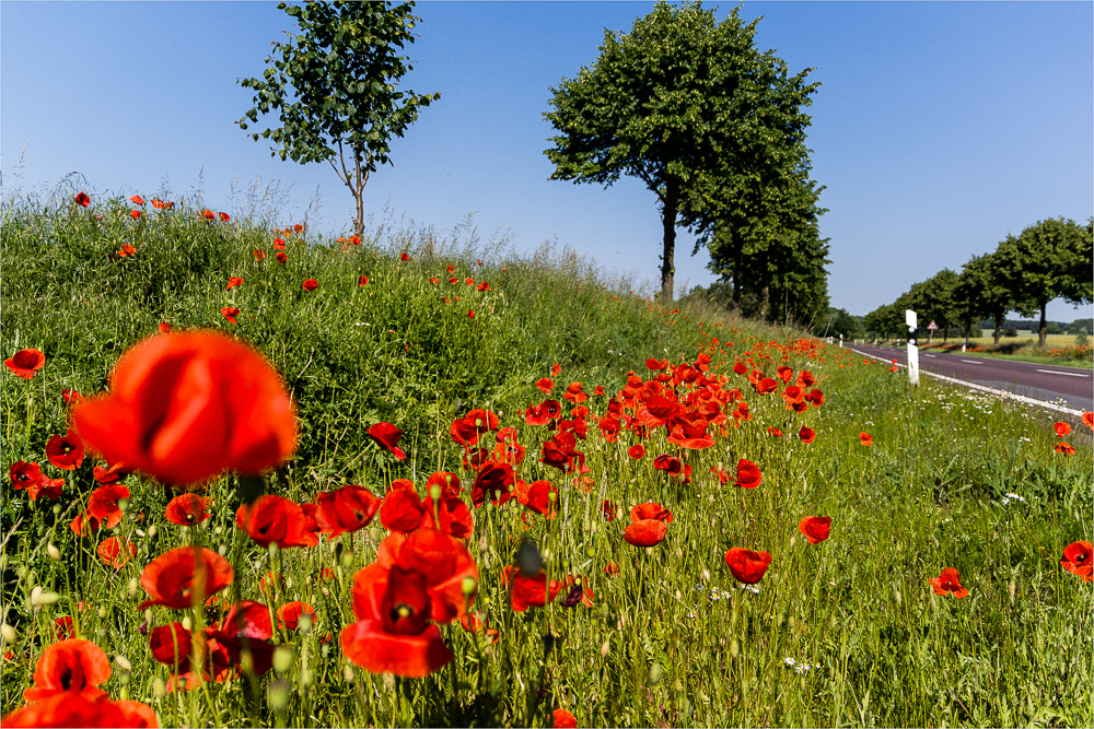
[[[907,365],[908,348],[845,344],[877,360]],[[919,352],[919,368],[926,372],[994,387],[1036,400],[1061,399],[1075,410],[1094,410],[1094,373],[1078,367],[967,356],[961,353]]]

